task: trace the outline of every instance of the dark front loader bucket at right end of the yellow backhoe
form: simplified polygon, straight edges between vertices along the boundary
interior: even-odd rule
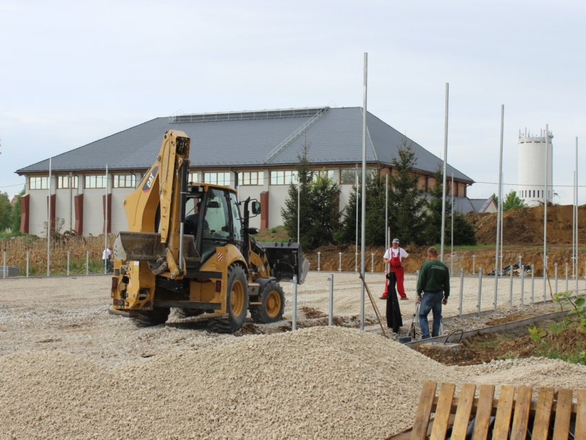
[[[297,276],[297,284],[303,284],[310,262],[303,257],[299,243],[259,243],[264,250],[271,268],[271,275],[277,281],[292,281]]]

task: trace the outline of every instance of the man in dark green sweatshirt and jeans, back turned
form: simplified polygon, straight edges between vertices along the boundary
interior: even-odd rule
[[[432,337],[439,336],[441,306],[447,304],[447,297],[449,297],[449,270],[447,266],[438,260],[438,250],[434,247],[427,249],[427,257],[430,260],[425,261],[421,266],[417,281],[417,301],[421,302],[419,307],[421,339],[429,339],[430,337],[427,315],[430,314],[431,310],[434,311]]]

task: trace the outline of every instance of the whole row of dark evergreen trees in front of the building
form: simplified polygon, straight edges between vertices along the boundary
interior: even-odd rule
[[[283,224],[290,237],[297,237],[299,197],[299,237],[305,249],[328,244],[354,243],[356,238],[356,208],[358,230],[361,228],[361,179],[352,186],[350,199],[339,210],[341,186],[323,172],[316,172],[307,159],[311,143],[303,144],[296,166],[298,183],[290,183],[285,206],[281,208]],[[435,183],[427,193],[419,188],[419,174],[414,172],[417,157],[412,144],[403,141],[398,157],[392,159],[389,174],[388,222],[392,237],[401,243],[434,245],[441,241],[443,173],[435,173]],[[380,166],[368,170],[365,181],[365,244],[385,245],[386,178]],[[358,191],[357,191],[358,190]],[[358,205],[358,206],[357,206]],[[446,198],[445,237],[452,232],[451,199]],[[454,210],[454,245],[476,244],[476,231],[463,214]]]

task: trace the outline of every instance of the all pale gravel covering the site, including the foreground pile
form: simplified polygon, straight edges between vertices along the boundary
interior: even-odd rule
[[[327,312],[327,275],[310,273],[299,308]],[[172,317],[165,326],[135,328],[106,312],[109,282],[93,276],[0,283],[0,439],[382,439],[411,426],[425,380],[577,389],[586,373],[547,359],[445,367],[383,339],[376,326],[234,337]],[[379,296],[383,276],[367,282]],[[414,277],[406,284],[413,300]],[[290,317],[291,288],[284,287]],[[445,326],[552,311],[510,309],[508,285],[502,293],[501,287],[498,314]],[[483,308],[491,308],[494,290],[486,289],[491,297]],[[358,314],[359,292],[356,274],[334,274],[335,314]],[[465,279],[465,312],[476,310],[477,295],[476,281]],[[377,301],[382,310],[384,301]],[[414,304],[403,303],[410,323]],[[445,316],[457,308],[449,301]]]

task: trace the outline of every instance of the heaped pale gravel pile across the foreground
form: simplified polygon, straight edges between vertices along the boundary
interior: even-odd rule
[[[250,336],[106,368],[64,352],[0,359],[1,439],[383,439],[423,381],[579,388],[586,368],[528,359],[445,367],[346,328]]]

